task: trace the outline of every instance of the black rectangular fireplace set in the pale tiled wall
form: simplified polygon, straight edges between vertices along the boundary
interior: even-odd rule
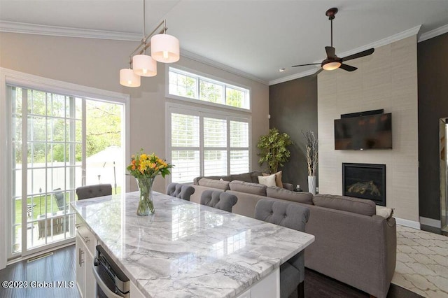
[[[342,194],[386,206],[386,164],[342,163]]]

